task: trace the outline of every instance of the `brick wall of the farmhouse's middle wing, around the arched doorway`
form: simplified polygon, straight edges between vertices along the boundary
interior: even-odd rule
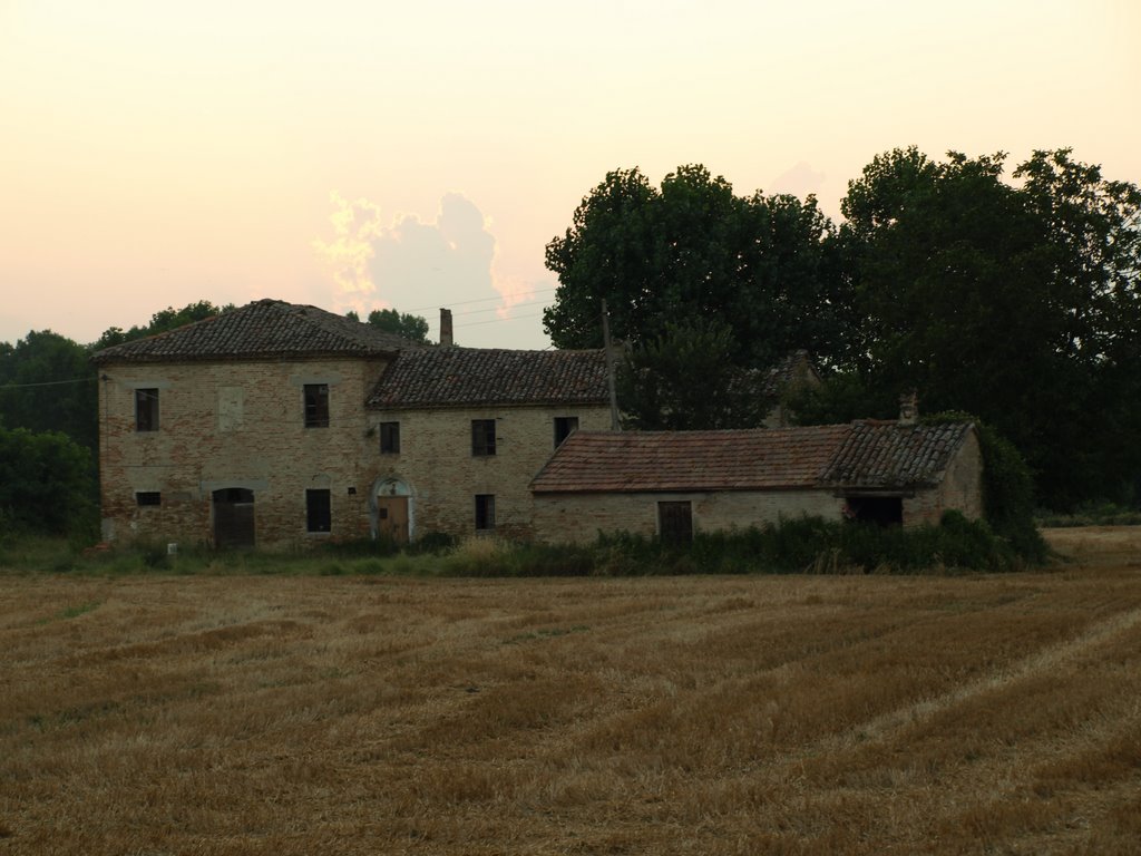
[[[582,430],[607,430],[605,405],[482,405],[390,409],[369,413],[370,495],[410,498],[412,540],[432,532],[476,533],[476,495],[493,495],[494,532],[534,535],[528,485],[555,451],[555,419],[576,417]],[[495,454],[475,455],[471,421],[495,420]],[[399,423],[399,453],[380,452],[381,422]]]

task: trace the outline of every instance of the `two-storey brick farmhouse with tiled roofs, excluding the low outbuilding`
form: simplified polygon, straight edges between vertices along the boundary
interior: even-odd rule
[[[529,479],[609,426],[602,352],[424,347],[278,300],[94,362],[108,541],[526,538]]]

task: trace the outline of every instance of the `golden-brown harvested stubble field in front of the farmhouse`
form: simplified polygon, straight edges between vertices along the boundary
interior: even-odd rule
[[[1004,576],[0,575],[0,854],[1141,853],[1141,531],[1053,538]]]

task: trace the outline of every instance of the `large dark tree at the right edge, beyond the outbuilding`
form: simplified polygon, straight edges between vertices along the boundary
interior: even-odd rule
[[[861,334],[844,368],[880,399],[916,388],[924,410],[985,419],[1052,507],[1124,498],[1141,473],[1125,442],[1141,427],[1141,194],[1065,150],[1019,167],[1021,187],[1004,160],[896,150],[849,184]]]

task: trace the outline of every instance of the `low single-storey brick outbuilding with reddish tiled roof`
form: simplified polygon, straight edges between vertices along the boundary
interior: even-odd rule
[[[905,526],[948,509],[980,517],[974,427],[908,421],[578,433],[531,483],[535,531],[556,541],[612,531],[688,540],[802,514]]]

